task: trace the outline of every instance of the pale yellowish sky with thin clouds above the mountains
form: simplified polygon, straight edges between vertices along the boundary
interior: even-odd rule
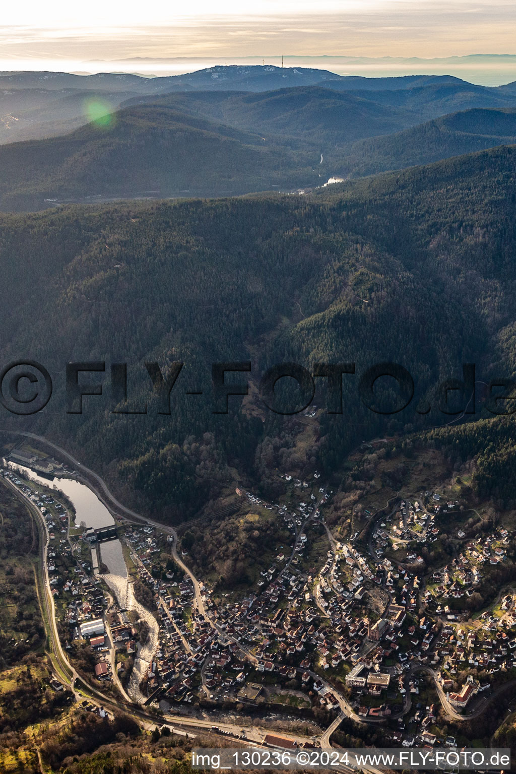
[[[2,3],[0,69],[165,74],[189,69],[167,64],[177,57],[516,54],[515,21],[514,0],[24,0]],[[141,67],[125,62],[135,58]]]

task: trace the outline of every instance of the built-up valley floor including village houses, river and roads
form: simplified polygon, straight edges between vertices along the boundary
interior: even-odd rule
[[[39,454],[45,459],[43,451]],[[378,450],[371,453],[367,448],[358,456],[374,457],[380,464],[384,460]],[[66,457],[61,459],[66,481],[71,471]],[[144,717],[158,713],[173,724],[170,728],[202,729],[209,722],[212,734],[229,732],[265,746],[266,713],[272,711],[282,718],[287,747],[291,741],[301,748],[312,745],[313,731],[324,717],[326,730],[323,725],[316,731],[323,747],[332,744],[331,738],[338,746],[344,724],[364,740],[372,733],[385,744],[438,742],[453,748],[462,744],[463,724],[482,717],[493,700],[503,701],[516,680],[514,522],[513,529],[506,529],[501,526],[504,516],[500,521],[480,506],[480,511],[474,509],[479,519],[475,523],[466,502],[472,494],[466,494],[463,483],[458,488],[441,484],[440,493],[424,491],[417,498],[398,493],[377,512],[363,511],[361,533],[351,532],[350,518],[340,517],[330,529],[326,519],[334,517],[330,509],[338,493],[330,491],[317,472],[311,481],[285,481],[281,502],[238,490],[240,511],[255,513],[246,517],[251,526],[263,529],[261,514],[271,512],[275,522],[284,523],[279,534],[286,529],[290,538],[285,533],[289,545],[280,546],[272,562],[266,560],[258,581],[249,579],[245,591],[242,587],[228,598],[224,585],[235,588],[230,577],[220,578],[214,589],[188,567],[196,546],[194,528],[164,529],[159,522],[128,514],[123,506],[114,507],[103,484],[125,546],[128,579],[117,578],[105,574],[109,568],[102,559],[100,573],[87,560],[95,542],[84,526],[74,526],[70,512],[59,504],[59,485],[57,495],[50,495],[53,490],[43,479],[31,483],[31,471],[17,478],[9,463],[2,475],[20,498],[39,500],[32,507],[39,509],[47,545],[55,541],[56,518],[64,524],[64,554],[63,548],[49,553],[46,547],[43,560],[43,577],[56,607],[53,639],[63,659],[56,663],[56,676],[77,700],[86,696],[93,709],[104,712],[118,705],[131,714],[131,707],[141,704]],[[463,478],[457,476],[456,481]],[[446,499],[454,486],[458,498]],[[60,514],[54,513],[56,502]],[[354,512],[361,507],[359,498]],[[436,526],[445,512],[453,515],[453,534]],[[316,564],[309,560],[308,567],[303,558],[310,549],[306,537],[318,526],[325,539]],[[203,532],[209,535],[210,527]],[[468,534],[475,532],[467,542]],[[438,544],[446,562],[442,569],[436,570],[439,562],[429,560],[427,553],[426,559],[417,555],[417,547],[416,553],[407,550],[418,543],[423,553],[425,543]],[[98,543],[100,557],[106,545]],[[401,559],[400,546],[405,551]],[[71,564],[67,555],[73,557]],[[494,594],[490,603],[487,587],[490,574],[499,574],[498,564],[506,578],[504,591]],[[124,583],[130,594],[123,591]],[[135,593],[143,605],[134,601]],[[462,598],[466,607],[460,602],[457,608]],[[153,611],[151,632],[145,607]],[[60,663],[66,671],[60,670]],[[125,675],[131,670],[138,675],[136,682]],[[430,676],[429,683],[425,676]],[[419,695],[430,701],[429,714],[422,714]],[[185,715],[186,707],[191,710]],[[235,710],[240,721],[228,724]],[[304,728],[306,737],[289,733],[292,724]]]

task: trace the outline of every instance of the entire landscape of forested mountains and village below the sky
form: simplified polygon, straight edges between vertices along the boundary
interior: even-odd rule
[[[0,87],[2,774],[510,747],[514,83]]]

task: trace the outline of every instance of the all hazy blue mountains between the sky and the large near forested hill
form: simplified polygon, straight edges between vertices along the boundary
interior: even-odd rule
[[[516,84],[451,76],[0,74],[0,207],[319,187],[511,145],[515,109]]]

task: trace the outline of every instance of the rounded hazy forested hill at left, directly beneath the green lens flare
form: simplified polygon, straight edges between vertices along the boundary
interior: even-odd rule
[[[319,182],[316,149],[291,151],[166,106],[119,111],[68,135],[0,147],[0,208],[91,197],[220,196]]]

